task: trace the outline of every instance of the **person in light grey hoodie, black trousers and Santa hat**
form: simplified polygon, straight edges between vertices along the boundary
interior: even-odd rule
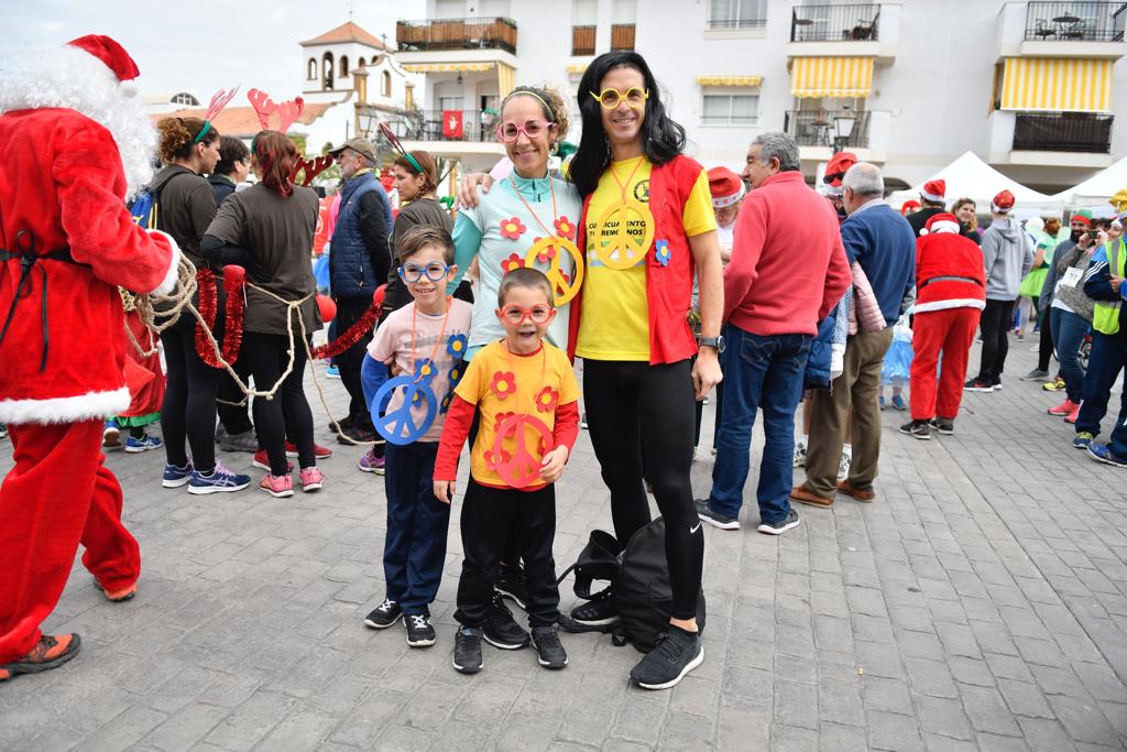
[[[983,335],[978,375],[967,382],[967,391],[1002,388],[1002,371],[1010,350],[1009,331],[1021,280],[1029,273],[1033,254],[1018,223],[1010,219],[1013,194],[1009,191],[991,202],[991,225],[983,232],[983,263],[986,267],[986,308],[979,324]]]

